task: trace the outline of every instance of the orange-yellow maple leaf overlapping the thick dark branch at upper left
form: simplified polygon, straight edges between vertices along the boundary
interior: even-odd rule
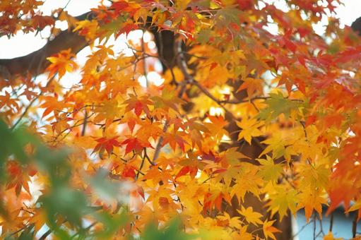
[[[60,79],[66,72],[74,71],[78,65],[71,60],[73,57],[75,57],[75,54],[71,53],[71,49],[61,50],[61,52],[47,57],[47,60],[51,63],[46,70],[49,71],[48,78],[52,78],[55,73],[58,73]]]

